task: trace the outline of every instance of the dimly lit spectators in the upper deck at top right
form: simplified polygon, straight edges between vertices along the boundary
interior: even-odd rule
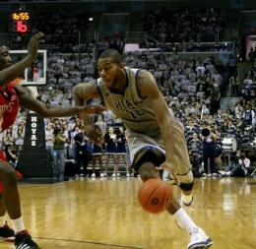
[[[221,36],[226,23],[223,9],[182,8],[167,11],[163,8],[150,11],[144,18],[143,29],[158,40],[166,42],[215,41]]]

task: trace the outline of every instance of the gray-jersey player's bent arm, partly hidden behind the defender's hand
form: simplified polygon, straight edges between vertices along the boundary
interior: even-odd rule
[[[92,98],[101,98],[101,96],[98,93],[96,83],[91,82],[78,84],[74,88],[73,98],[75,106],[85,106],[87,104],[87,100]],[[99,143],[102,140],[102,133],[99,127],[90,119],[88,114],[80,113],[79,116],[83,120],[86,135],[95,143]]]

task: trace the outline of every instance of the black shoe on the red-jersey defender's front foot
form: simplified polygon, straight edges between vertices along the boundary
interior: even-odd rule
[[[15,234],[15,249],[40,249],[27,230]]]

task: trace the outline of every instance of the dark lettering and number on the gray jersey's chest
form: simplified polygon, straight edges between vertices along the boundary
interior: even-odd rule
[[[123,98],[115,102],[115,108],[129,113],[133,119],[138,119],[145,114],[136,107],[136,104],[132,101],[131,97]]]

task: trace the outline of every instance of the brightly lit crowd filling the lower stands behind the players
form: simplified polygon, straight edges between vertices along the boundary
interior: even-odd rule
[[[256,134],[255,67],[239,84],[239,100],[235,106],[231,109],[221,109],[220,89],[223,80],[216,69],[219,62],[214,58],[181,59],[175,54],[166,56],[158,53],[128,53],[125,55],[125,62],[130,67],[147,69],[155,76],[168,106],[184,124],[192,164],[198,166],[202,162],[201,132],[205,127],[216,135],[220,147],[222,139],[230,137],[235,138],[239,150],[250,148]],[[76,84],[96,81],[93,56],[92,54],[51,55],[48,59],[48,75],[48,86],[39,90],[40,100],[52,105],[71,105],[72,89]],[[247,92],[245,93],[244,90]],[[95,121],[103,133],[106,133],[110,126],[122,126],[121,120],[109,110],[104,111],[102,115],[96,115]],[[0,135],[1,146],[10,146],[13,155],[18,155],[19,150],[22,149],[25,122],[26,112],[22,111],[13,127]],[[74,138],[77,134],[83,134],[81,121],[76,117],[45,119],[45,130],[46,127],[48,127],[47,134],[53,133],[56,128],[62,129],[62,134],[66,138],[64,157],[75,157]],[[94,145],[84,135],[82,143],[86,145],[87,153],[92,154]],[[196,158],[195,155],[198,157]]]

